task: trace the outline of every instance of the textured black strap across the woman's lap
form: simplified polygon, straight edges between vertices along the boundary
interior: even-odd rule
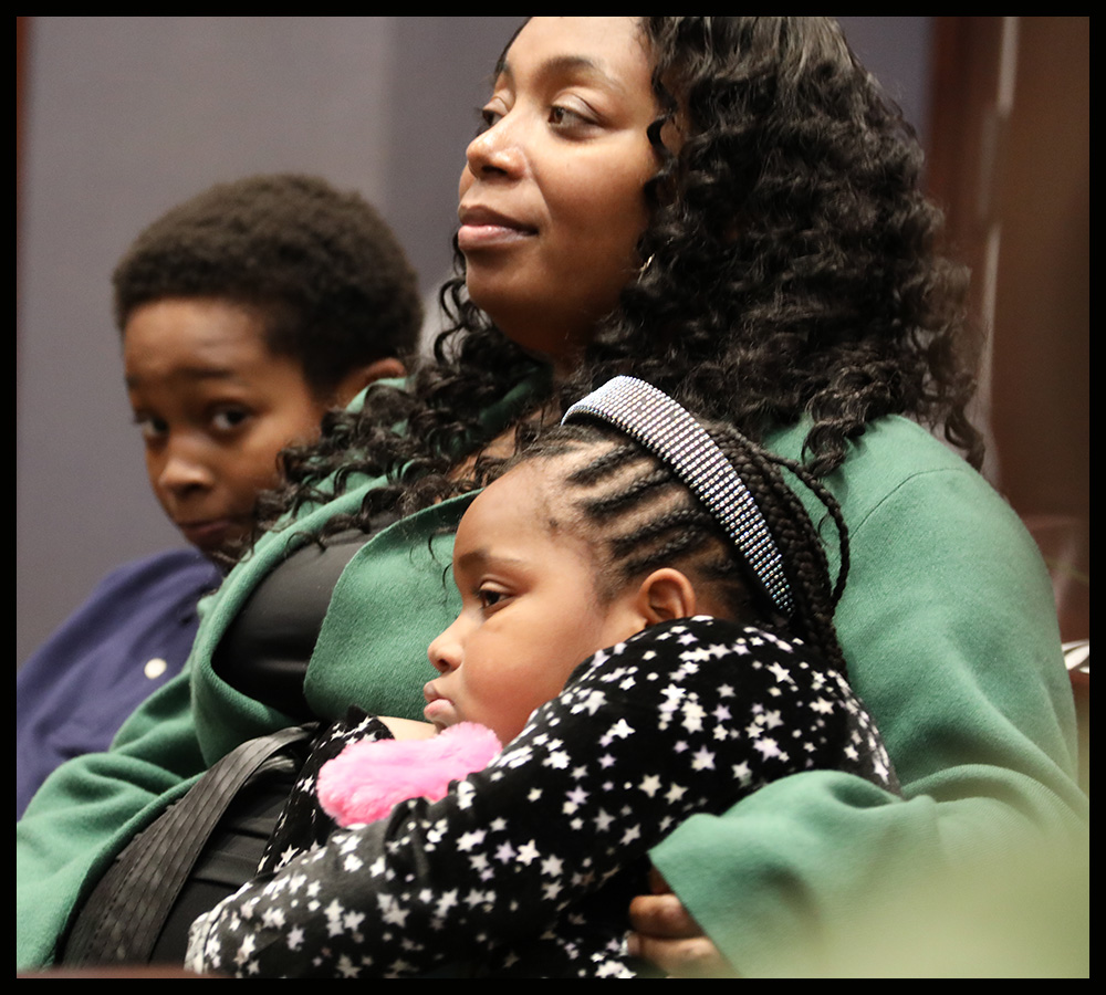
[[[192,866],[236,794],[274,753],[315,731],[314,724],[296,726],[242,743],[136,836],[77,914],[65,963],[148,963]]]

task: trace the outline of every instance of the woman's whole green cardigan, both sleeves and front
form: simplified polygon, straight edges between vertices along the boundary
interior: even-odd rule
[[[797,457],[804,433],[789,429],[769,446]],[[654,851],[743,974],[820,970],[825,943],[847,936],[858,910],[878,910],[878,898],[909,887],[909,874],[956,871],[1026,835],[1070,839],[1086,815],[1052,589],[1014,513],[901,418],[869,427],[827,483],[853,543],[838,633],[905,799],[846,775],[800,774],[726,816],[692,817]],[[371,485],[306,514],[298,531],[351,510]],[[351,703],[420,716],[426,648],[459,608],[446,573],[452,538],[440,533],[467,502],[397,522],[346,567],[307,671],[307,700],[321,718]],[[18,831],[20,965],[52,961],[90,871],[95,881],[212,762],[288,724],[210,664],[288,541],[267,537],[204,604],[185,674],[128,720],[112,751],[63,765],[35,796]]]

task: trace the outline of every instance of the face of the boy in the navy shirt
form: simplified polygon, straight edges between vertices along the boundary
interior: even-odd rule
[[[295,359],[269,350],[261,320],[229,301],[136,308],[123,358],[157,500],[192,545],[227,548],[278,482],[276,454],[314,439],[327,405]]]

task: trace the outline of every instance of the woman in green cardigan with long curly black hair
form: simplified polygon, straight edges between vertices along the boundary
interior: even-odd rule
[[[409,394],[371,392],[290,461],[278,509],[296,527],[229,576],[191,691],[167,688],[112,754],[63,768],[32,803],[21,961],[52,956],[86,882],[198,772],[289,723],[292,706],[228,687],[212,658],[290,542],[401,516],[334,587],[303,698],[323,719],[349,703],[417,715],[426,646],[456,614],[442,533],[463,495],[518,434],[619,373],[824,475],[853,535],[841,642],[904,783],[905,800],[844,775],[786,778],[653,853],[735,970],[797,970],[781,955],[838,923],[847,934],[845,912],[905,869],[1078,820],[1032,543],[966,463],[894,417],[941,422],[978,459],[962,276],[933,258],[912,139],[837,29],[535,19],[483,118],[461,178],[465,280],[445,293],[467,334],[438,343]]]

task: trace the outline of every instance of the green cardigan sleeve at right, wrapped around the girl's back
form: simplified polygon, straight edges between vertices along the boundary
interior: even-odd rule
[[[888,486],[894,470],[835,482],[853,538],[837,624],[904,797],[800,774],[693,817],[651,855],[739,974],[880,973],[865,960],[872,944],[924,943],[905,910],[956,921],[968,899],[1009,882],[1014,861],[1085,839],[1071,688],[1036,547],[967,467],[939,458]]]

